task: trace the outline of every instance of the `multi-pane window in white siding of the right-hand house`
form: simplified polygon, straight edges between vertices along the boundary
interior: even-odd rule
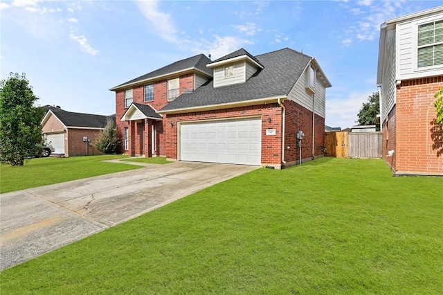
[[[443,64],[443,20],[418,26],[417,67]]]

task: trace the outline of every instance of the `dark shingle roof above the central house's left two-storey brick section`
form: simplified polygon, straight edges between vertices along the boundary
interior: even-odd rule
[[[213,76],[213,70],[208,69],[206,64],[210,63],[210,59],[206,57],[204,54],[195,55],[193,57],[188,57],[184,60],[179,60],[178,62],[173,62],[172,64],[168,64],[168,66],[163,66],[161,69],[157,69],[155,71],[152,71],[150,73],[147,73],[145,75],[141,75],[138,78],[129,80],[123,84],[120,84],[116,87],[113,87],[111,89],[116,89],[118,87],[125,86],[126,84],[132,84],[136,82],[140,82],[143,80],[148,80],[152,78],[159,77],[161,75],[168,75],[170,73],[174,73],[176,71],[183,71],[184,69],[190,69],[195,68],[199,69],[200,71],[203,71],[204,73],[207,73],[211,77]]]

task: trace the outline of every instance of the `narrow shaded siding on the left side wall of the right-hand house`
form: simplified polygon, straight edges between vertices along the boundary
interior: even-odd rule
[[[388,118],[388,114],[395,105],[395,30],[386,32],[386,48],[384,67],[382,70],[380,89],[381,124]]]

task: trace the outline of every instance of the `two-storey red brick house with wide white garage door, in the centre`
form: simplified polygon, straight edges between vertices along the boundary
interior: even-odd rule
[[[196,55],[116,91],[117,128],[131,156],[283,168],[322,155],[325,89],[312,57],[284,48],[218,60]]]

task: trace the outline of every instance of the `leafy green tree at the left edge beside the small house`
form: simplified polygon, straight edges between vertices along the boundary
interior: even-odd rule
[[[44,110],[35,107],[37,100],[24,73],[1,80],[0,163],[23,166],[26,157],[42,151]]]

